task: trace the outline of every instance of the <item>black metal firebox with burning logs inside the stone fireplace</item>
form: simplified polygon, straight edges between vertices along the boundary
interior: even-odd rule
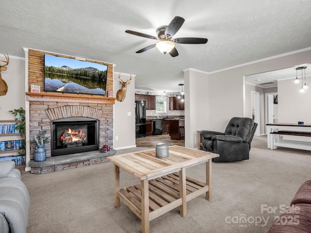
[[[99,121],[88,117],[68,117],[51,122],[51,155],[98,150]]]

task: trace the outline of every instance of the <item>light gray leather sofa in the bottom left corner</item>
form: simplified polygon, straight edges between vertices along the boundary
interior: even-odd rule
[[[30,198],[13,161],[0,161],[0,233],[26,233]]]

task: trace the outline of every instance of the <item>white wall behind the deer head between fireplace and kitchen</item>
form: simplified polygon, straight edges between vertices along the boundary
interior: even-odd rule
[[[113,96],[116,97],[117,91],[121,89],[119,83],[119,73],[114,73]],[[130,78],[129,74],[122,74],[121,79],[126,81]],[[115,150],[136,147],[135,139],[135,75],[132,74],[131,83],[127,85],[126,97],[122,102],[115,101],[113,113],[113,147]],[[130,114],[131,116],[128,116]],[[118,137],[118,140],[116,140]]]

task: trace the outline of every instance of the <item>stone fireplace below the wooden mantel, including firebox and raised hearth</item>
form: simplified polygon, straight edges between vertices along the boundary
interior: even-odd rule
[[[31,95],[31,94],[30,94]],[[108,145],[113,148],[113,105],[101,101],[81,100],[49,100],[28,96],[30,101],[30,139],[33,139],[40,130],[46,130],[51,135],[51,143],[46,146],[47,162],[57,158],[57,164],[44,166],[45,162],[34,162],[34,149],[31,147],[31,172],[43,174],[60,169],[69,169],[78,166],[87,166],[94,163],[106,162],[107,153],[100,153],[99,148]],[[71,127],[71,128],[70,128]],[[78,127],[78,128],[76,128]],[[81,128],[80,128],[81,127]],[[86,140],[82,144],[68,144],[64,146],[60,141],[65,130],[74,130],[86,133]],[[94,158],[85,159],[86,154],[93,151]],[[97,155],[96,155],[97,154]],[[74,163],[68,162],[72,155]],[[64,158],[62,161],[62,158]],[[103,159],[104,158],[104,159]],[[48,163],[49,164],[49,163]]]

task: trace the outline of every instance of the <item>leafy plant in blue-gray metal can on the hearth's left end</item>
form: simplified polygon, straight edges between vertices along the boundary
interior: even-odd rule
[[[46,130],[41,130],[30,142],[31,144],[35,144],[35,162],[42,162],[47,159],[45,145],[50,142],[50,136],[46,134]]]

